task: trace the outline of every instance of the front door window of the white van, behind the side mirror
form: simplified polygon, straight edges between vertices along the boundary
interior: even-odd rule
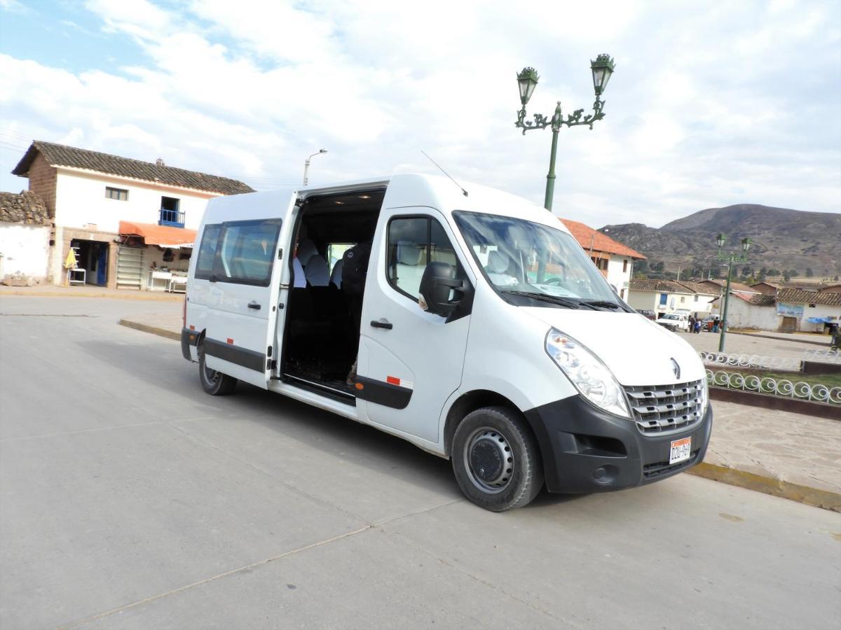
[[[389,222],[389,284],[415,302],[421,277],[430,262],[446,262],[458,269],[456,251],[441,223],[431,217],[398,217]]]

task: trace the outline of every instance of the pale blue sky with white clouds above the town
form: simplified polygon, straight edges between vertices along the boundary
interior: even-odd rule
[[[0,0],[0,190],[33,139],[246,181],[437,173],[660,227],[708,207],[841,213],[841,2]]]

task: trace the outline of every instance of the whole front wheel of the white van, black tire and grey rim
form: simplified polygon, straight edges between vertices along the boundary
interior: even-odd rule
[[[482,407],[452,437],[452,471],[464,496],[491,512],[531,503],[543,487],[537,440],[518,412]]]

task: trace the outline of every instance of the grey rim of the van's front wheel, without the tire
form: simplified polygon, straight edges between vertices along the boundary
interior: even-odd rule
[[[504,491],[514,475],[514,452],[505,435],[482,427],[470,434],[464,447],[464,468],[473,486],[489,494]]]

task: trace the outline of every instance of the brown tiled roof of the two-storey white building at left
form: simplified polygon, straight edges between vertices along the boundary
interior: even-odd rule
[[[107,153],[98,153],[98,151],[77,149],[75,147],[65,146],[64,144],[44,142],[43,140],[34,140],[29,146],[29,150],[26,151],[26,155],[14,167],[12,171],[13,175],[27,176],[29,166],[32,165],[32,160],[35,159],[35,155],[38,153],[43,155],[44,159],[51,166],[70,166],[87,171],[108,173],[108,175],[154,181],[169,186],[220,192],[223,195],[238,195],[241,192],[254,192],[251,186],[241,181],[228,179],[227,177],[207,175],[197,171],[185,171],[184,169],[163,165],[162,163],[152,164],[151,162],[141,162],[140,160],[119,157],[119,155],[108,155]]]

